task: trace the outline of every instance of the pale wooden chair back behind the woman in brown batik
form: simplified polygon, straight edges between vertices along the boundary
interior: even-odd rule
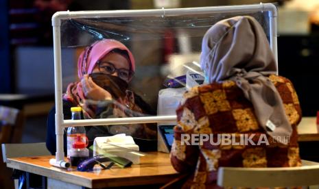
[[[319,163],[279,168],[220,167],[217,184],[223,187],[292,187],[319,185]]]

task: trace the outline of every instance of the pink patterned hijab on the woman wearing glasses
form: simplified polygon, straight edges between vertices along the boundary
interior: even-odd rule
[[[86,47],[78,59],[78,77],[81,80],[84,74],[91,74],[97,61],[104,58],[105,55],[114,49],[121,49],[128,52],[130,69],[135,71],[135,60],[131,51],[121,42],[112,39],[104,39],[94,42],[90,47]],[[94,117],[94,110],[89,107],[85,101],[87,100],[82,90],[80,82],[69,84],[67,92],[63,96],[64,100],[71,101],[75,105],[80,105],[84,110],[84,116],[87,118]]]

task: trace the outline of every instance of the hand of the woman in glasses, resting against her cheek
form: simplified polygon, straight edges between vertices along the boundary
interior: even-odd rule
[[[95,101],[112,100],[112,95],[104,88],[94,83],[91,77],[84,75],[81,80],[84,96]]]

